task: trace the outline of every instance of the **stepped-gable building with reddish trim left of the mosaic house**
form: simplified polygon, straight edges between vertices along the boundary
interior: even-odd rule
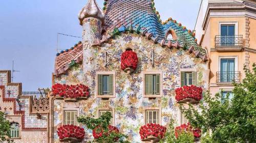
[[[14,142],[49,142],[49,98],[22,93],[22,83],[11,82],[11,71],[0,71],[0,111],[11,124]]]

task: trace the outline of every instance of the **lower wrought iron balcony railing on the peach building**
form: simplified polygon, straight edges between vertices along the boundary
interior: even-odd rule
[[[217,72],[217,83],[240,82],[240,71]]]

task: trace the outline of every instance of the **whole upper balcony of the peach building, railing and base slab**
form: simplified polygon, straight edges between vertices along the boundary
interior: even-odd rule
[[[217,51],[241,51],[243,49],[243,35],[215,37],[215,48]]]

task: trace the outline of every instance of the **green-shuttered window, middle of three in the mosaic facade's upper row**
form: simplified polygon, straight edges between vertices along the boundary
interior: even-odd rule
[[[145,95],[160,95],[160,74],[145,74]]]

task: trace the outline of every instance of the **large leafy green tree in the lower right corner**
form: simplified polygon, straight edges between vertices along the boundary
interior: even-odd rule
[[[246,77],[241,83],[233,83],[233,98],[209,93],[199,104],[199,110],[189,105],[182,108],[189,122],[202,129],[208,137],[205,142],[255,142],[256,140],[256,66],[252,71],[244,68]],[[223,102],[221,102],[221,100]],[[212,141],[214,140],[214,141]]]

